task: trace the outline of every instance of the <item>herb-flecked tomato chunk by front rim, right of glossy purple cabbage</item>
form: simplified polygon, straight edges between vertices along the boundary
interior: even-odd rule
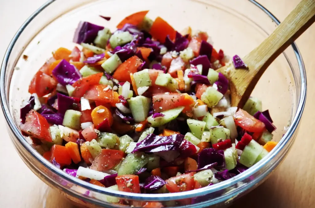
[[[189,191],[195,188],[194,173],[175,176],[166,180],[166,188],[171,193]]]

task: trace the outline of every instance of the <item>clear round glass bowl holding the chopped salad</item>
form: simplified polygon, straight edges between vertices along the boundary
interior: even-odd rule
[[[74,30],[80,20],[115,29],[123,17],[141,10],[162,16],[176,30],[190,25],[207,31],[216,49],[230,56],[246,55],[258,46],[279,21],[253,0],[55,0],[45,3],[21,26],[12,39],[1,68],[1,104],[9,134],[20,157],[45,183],[87,207],[123,207],[108,196],[140,202],[159,201],[169,207],[228,206],[266,180],[290,150],[306,99],[306,75],[301,54],[293,43],[266,70],[253,96],[269,109],[274,140],[279,144],[248,171],[202,189],[172,194],[133,194],[110,191],[84,182],[45,160],[19,131],[20,106],[29,98],[31,78],[58,47],[73,48]],[[111,16],[110,21],[98,15]],[[27,60],[23,59],[27,55]],[[282,139],[281,139],[282,138]]]

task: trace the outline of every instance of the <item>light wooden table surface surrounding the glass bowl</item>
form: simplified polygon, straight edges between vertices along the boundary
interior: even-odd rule
[[[14,33],[45,0],[1,1],[0,57]],[[299,0],[259,0],[278,19],[283,20]],[[235,202],[232,207],[315,207],[315,25],[296,41],[304,59],[308,93],[300,131],[289,155],[280,167],[258,188]],[[68,200],[37,178],[15,152],[0,112],[2,144],[0,145],[0,207],[3,208],[70,208]]]

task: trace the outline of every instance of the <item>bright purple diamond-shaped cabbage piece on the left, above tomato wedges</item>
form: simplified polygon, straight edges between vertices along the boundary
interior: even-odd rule
[[[77,70],[77,68],[67,62],[65,59],[62,59],[60,63],[58,63],[58,65],[52,71],[52,74],[63,86],[72,85],[81,78],[79,70]]]

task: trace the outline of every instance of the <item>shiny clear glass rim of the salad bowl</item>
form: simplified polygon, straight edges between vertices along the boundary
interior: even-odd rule
[[[4,117],[5,117],[6,122],[8,124],[8,127],[13,132],[14,136],[18,139],[18,141],[23,146],[23,148],[25,148],[25,150],[28,151],[31,154],[31,156],[34,157],[38,162],[40,162],[45,168],[49,169],[49,171],[52,171],[54,174],[67,180],[68,182],[74,183],[75,185],[81,186],[85,189],[89,189],[89,190],[92,190],[94,192],[98,192],[101,194],[106,194],[106,195],[111,195],[111,196],[115,196],[115,197],[131,199],[131,200],[146,200],[146,201],[179,200],[179,199],[184,199],[184,198],[198,197],[198,196],[210,194],[210,193],[225,189],[227,187],[231,187],[233,185],[236,185],[237,183],[242,182],[244,179],[249,178],[251,175],[258,172],[262,167],[264,167],[268,162],[270,162],[283,149],[284,146],[286,146],[288,144],[290,138],[295,133],[295,130],[298,128],[298,124],[301,120],[302,112],[304,110],[305,102],[306,102],[306,71],[305,71],[305,67],[304,67],[301,53],[300,53],[297,45],[295,44],[295,42],[293,42],[291,44],[291,47],[293,48],[293,50],[295,52],[295,56],[296,56],[297,61],[298,61],[300,75],[301,75],[301,80],[298,80],[298,81],[301,81],[301,92],[300,92],[301,97],[298,101],[298,106],[296,108],[296,114],[295,114],[295,116],[292,120],[292,123],[290,124],[287,132],[284,134],[283,138],[280,140],[280,142],[278,143],[276,148],[274,148],[270,152],[269,156],[265,157],[260,162],[258,162],[253,167],[251,167],[249,171],[245,171],[245,172],[243,172],[243,173],[241,173],[241,174],[239,174],[239,175],[237,175],[237,176],[235,176],[229,180],[223,181],[221,183],[217,183],[217,184],[214,184],[212,186],[205,187],[205,188],[203,188],[202,191],[200,191],[200,189],[199,190],[196,189],[196,190],[191,190],[191,191],[186,191],[186,192],[168,193],[168,194],[135,194],[135,193],[121,192],[121,191],[110,191],[109,192],[105,188],[87,183],[85,181],[82,181],[78,178],[74,178],[74,177],[66,174],[64,171],[57,169],[53,164],[51,164],[46,159],[44,159],[43,156],[41,156],[35,149],[30,148],[30,145],[27,143],[27,141],[25,140],[25,138],[21,134],[18,127],[14,124],[14,120],[13,120],[12,116],[10,115],[9,105],[8,105],[8,101],[6,99],[6,90],[8,90],[8,89],[5,87],[6,68],[7,68],[8,60],[9,60],[10,54],[12,52],[12,49],[14,47],[14,44],[16,43],[18,38],[20,37],[21,33],[25,30],[27,25],[39,13],[41,13],[46,7],[48,7],[54,1],[56,1],[56,0],[49,0],[48,2],[44,3],[40,8],[38,8],[33,14],[31,14],[31,16],[23,23],[23,25],[21,25],[19,30],[14,35],[13,39],[10,41],[9,46],[8,46],[8,48],[5,52],[4,58],[3,58],[3,62],[2,62],[2,66],[1,66],[1,72],[0,72],[0,88],[1,88],[0,101],[1,101],[3,114],[4,114]],[[265,12],[277,25],[280,24],[280,21],[271,12],[269,12],[265,7],[263,7],[260,3],[257,3],[255,0],[248,0],[248,1],[250,3],[253,3],[258,8],[260,8],[263,12]],[[277,161],[276,163],[278,163],[278,162],[279,161]],[[249,189],[250,187],[254,186],[255,184],[259,183],[261,181],[261,179],[264,178],[265,176],[267,176],[274,168],[275,168],[275,165],[270,166],[269,169],[264,172],[264,174],[261,174],[260,176],[258,176],[254,180],[247,183],[246,186],[243,186],[241,189],[239,189],[238,193],[240,193],[241,191],[245,191],[245,190]],[[47,175],[45,175],[45,174],[43,174],[43,175],[45,177],[49,178]],[[49,179],[51,179],[51,178],[49,178]],[[61,184],[57,183],[57,185],[60,186],[60,188],[63,189],[65,192],[73,195],[73,192],[69,192]],[[222,199],[220,201],[227,200],[227,199],[231,198],[231,196],[238,194],[238,193],[235,193],[235,191],[231,191],[231,193],[229,193],[229,194],[224,194],[223,196],[220,196],[220,197],[222,197]],[[90,198],[88,196],[84,196],[84,194],[80,195],[79,193],[75,192],[75,195],[78,198],[88,200],[88,201],[95,203],[95,200],[90,200]],[[215,203],[217,203],[217,201]]]

